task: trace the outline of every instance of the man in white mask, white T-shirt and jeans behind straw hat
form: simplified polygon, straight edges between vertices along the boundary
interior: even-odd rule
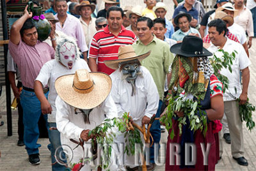
[[[56,128],[55,100],[58,96],[54,86],[56,78],[62,75],[73,74],[78,69],[90,70],[88,64],[83,59],[80,59],[79,56],[80,52],[76,40],[62,33],[57,39],[55,59],[45,63],[39,75],[36,77],[34,85],[35,93],[41,102],[42,114],[49,114],[49,128]],[[49,87],[48,100],[45,98],[43,92],[43,88],[47,86]],[[65,166],[56,163],[56,159],[54,158],[56,148],[61,145],[60,132],[56,129],[49,130],[49,139],[51,142],[52,170],[65,170]]]

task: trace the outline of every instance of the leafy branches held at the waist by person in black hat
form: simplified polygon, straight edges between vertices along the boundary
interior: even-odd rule
[[[166,114],[161,117],[161,123],[164,123],[166,130],[171,130],[170,138],[175,136],[173,130],[173,117],[178,117],[175,111],[183,111],[184,116],[179,117],[179,136],[182,134],[182,125],[189,124],[189,128],[192,131],[204,129],[204,136],[207,132],[207,115],[203,110],[200,110],[198,101],[186,99],[184,97],[176,96],[169,99],[169,104],[166,110]],[[186,121],[188,120],[188,122]]]

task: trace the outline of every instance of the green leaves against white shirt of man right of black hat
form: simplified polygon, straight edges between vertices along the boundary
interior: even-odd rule
[[[218,77],[220,82],[223,84],[223,93],[225,93],[226,89],[228,88],[228,78],[224,75],[221,75],[220,70],[224,68],[228,68],[228,70],[232,73],[232,64],[234,59],[236,58],[236,50],[229,54],[228,52],[225,52],[223,49],[219,49],[219,52],[223,53],[223,56],[217,57],[215,54],[212,58],[209,59],[211,62],[212,68],[214,70],[214,75]]]

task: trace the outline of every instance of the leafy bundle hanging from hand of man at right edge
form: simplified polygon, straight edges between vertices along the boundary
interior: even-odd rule
[[[240,99],[237,99],[239,102]],[[252,112],[255,111],[255,106],[252,105],[252,103],[249,103],[249,99],[246,101],[244,105],[239,105],[239,115],[241,121],[246,122],[246,127],[249,131],[252,131],[252,129],[255,127],[255,122],[252,119]]]

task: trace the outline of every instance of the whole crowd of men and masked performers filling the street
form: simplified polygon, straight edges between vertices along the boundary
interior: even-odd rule
[[[184,112],[174,111],[175,137],[168,136],[165,169],[214,170],[223,152],[222,135],[214,130],[217,120],[223,125],[223,138],[231,144],[232,158],[248,166],[236,99],[243,105],[248,98],[248,48],[256,36],[256,1],[217,0],[215,9],[206,12],[198,0],[173,0],[172,20],[166,19],[168,8],[163,1],[144,0],[145,6],[138,3],[124,9],[120,8],[122,1],[102,1],[103,10],[98,9],[97,1],[51,1],[51,8],[44,13],[51,24],[45,41],[38,40],[28,6],[10,29],[8,75],[14,95],[20,99],[17,145],[26,146],[29,163],[40,164],[41,145],[37,140],[41,115],[47,123],[52,170],[65,170],[67,163],[78,163],[84,155],[81,149],[74,149],[77,144],[70,138],[83,144],[90,142],[90,130],[104,119],[122,118],[125,112],[143,127],[154,114],[157,118],[166,114],[168,99],[179,96],[200,101],[208,129],[203,135],[200,130],[191,131],[189,123],[180,128],[178,121]],[[35,0],[33,3],[40,6]],[[209,60],[221,58],[220,50],[236,52],[232,72],[228,68],[220,70],[229,78],[225,92]],[[164,130],[159,120],[150,127],[152,146],[147,170],[156,167],[156,149]],[[115,143],[127,143],[124,133],[115,132]],[[186,143],[198,147],[193,165],[185,162]],[[61,144],[72,147],[74,155],[64,154],[66,158],[60,162],[55,152]],[[174,163],[170,159],[171,144],[180,144],[181,148],[180,158]],[[207,146],[207,165],[200,144],[211,144],[209,149]],[[141,167],[134,163],[134,156],[125,155],[124,159],[122,165],[113,162],[109,169]],[[90,169],[90,165],[81,168]]]

